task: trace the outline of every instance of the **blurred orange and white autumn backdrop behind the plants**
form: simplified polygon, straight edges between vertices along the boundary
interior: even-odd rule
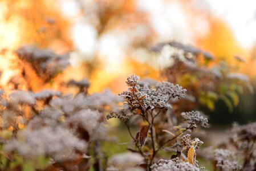
[[[177,41],[225,60],[248,75],[256,89],[256,1],[232,0],[1,0],[1,87],[19,70],[14,51],[23,44],[48,48],[58,54],[70,52],[71,66],[48,84],[33,78],[34,91],[59,87],[70,79],[90,80],[89,92],[127,89],[128,75],[165,80],[162,71],[169,56],[152,54],[149,47]],[[198,80],[200,81],[200,80]],[[26,88],[25,88],[26,89]],[[256,96],[245,91],[232,112],[222,101],[205,109],[213,125],[256,120]]]

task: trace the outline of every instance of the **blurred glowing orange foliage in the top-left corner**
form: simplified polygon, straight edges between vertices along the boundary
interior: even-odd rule
[[[23,44],[51,48],[56,52],[71,50],[69,26],[58,10],[58,1],[0,1],[0,71],[3,71],[0,84],[5,86],[10,78],[21,72],[14,51]],[[31,66],[24,64],[22,67],[30,75],[32,90],[41,89],[42,81]]]

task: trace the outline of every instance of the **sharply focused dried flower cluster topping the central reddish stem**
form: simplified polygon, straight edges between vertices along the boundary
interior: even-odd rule
[[[120,93],[120,96],[125,98],[131,111],[139,109],[142,112],[154,108],[170,108],[168,101],[171,98],[177,97],[181,99],[185,96],[186,89],[178,85],[168,82],[156,84],[156,86],[149,86],[149,84],[140,83],[137,85],[139,76],[129,76],[127,85],[131,86],[129,91]]]

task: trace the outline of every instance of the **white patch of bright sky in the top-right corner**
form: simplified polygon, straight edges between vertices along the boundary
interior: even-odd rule
[[[242,46],[250,48],[256,41],[255,0],[207,0],[214,15],[225,19]]]

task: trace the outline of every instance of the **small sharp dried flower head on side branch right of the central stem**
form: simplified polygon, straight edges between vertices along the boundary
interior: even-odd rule
[[[202,127],[208,126],[208,119],[203,117],[198,111],[182,112],[181,116],[193,128],[196,128],[197,124],[201,124]]]

